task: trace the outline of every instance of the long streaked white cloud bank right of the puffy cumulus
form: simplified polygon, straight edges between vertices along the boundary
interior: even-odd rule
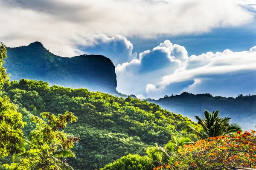
[[[164,76],[159,83],[148,83],[148,96],[159,98],[171,92],[173,85],[189,82],[176,93],[212,93],[213,95],[236,96],[242,93],[256,92],[256,52],[250,51],[223,53],[208,52],[199,56],[192,55],[184,64],[184,68],[173,74]],[[192,65],[192,66],[191,66]],[[188,68],[188,69],[187,69]],[[192,83],[191,83],[192,82]],[[172,92],[173,89],[172,89]]]

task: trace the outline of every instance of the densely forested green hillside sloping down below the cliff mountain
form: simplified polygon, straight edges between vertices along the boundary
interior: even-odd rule
[[[47,82],[26,79],[6,83],[4,88],[13,102],[30,114],[71,111],[78,117],[78,122],[65,130],[81,138],[73,148],[76,159],[68,159],[76,170],[99,169],[128,153],[145,155],[147,147],[155,142],[165,144],[174,133],[186,134],[188,125],[198,128],[187,117],[131,97],[123,99],[83,88],[49,87]],[[24,132],[33,128],[31,124]]]

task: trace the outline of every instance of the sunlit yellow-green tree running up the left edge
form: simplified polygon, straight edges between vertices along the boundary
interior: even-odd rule
[[[9,80],[6,69],[3,68],[6,53],[6,46],[0,42],[0,165],[3,162],[11,162],[9,155],[25,150],[20,128],[26,123],[22,121],[22,114],[17,112],[16,106],[10,103],[10,99],[3,96],[1,91],[3,83]],[[2,169],[3,167],[0,167],[0,170]]]

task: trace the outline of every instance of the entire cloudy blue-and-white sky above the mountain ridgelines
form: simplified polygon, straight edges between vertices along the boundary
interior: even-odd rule
[[[101,54],[117,91],[256,94],[256,0],[0,0],[0,41]]]

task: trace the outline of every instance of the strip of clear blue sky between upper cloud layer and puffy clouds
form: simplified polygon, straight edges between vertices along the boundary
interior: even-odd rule
[[[246,51],[256,45],[256,25],[252,24],[240,28],[216,28],[209,33],[166,36],[155,39],[128,38],[134,45],[134,52],[152,49],[164,40],[171,40],[175,44],[186,47],[189,55],[199,55],[207,51],[217,52],[230,49],[231,51]]]

